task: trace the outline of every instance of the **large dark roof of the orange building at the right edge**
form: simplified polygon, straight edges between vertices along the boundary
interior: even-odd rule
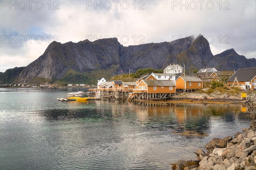
[[[227,81],[251,81],[256,76],[256,67],[238,69]]]

